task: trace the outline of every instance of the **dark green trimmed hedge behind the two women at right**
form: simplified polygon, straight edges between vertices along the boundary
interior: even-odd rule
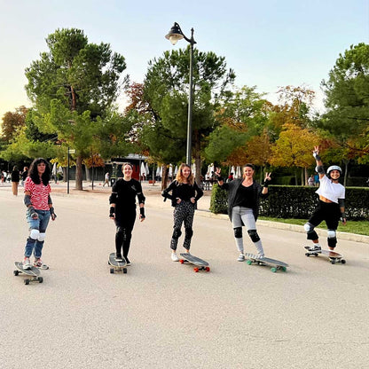
[[[317,187],[270,185],[269,197],[261,200],[260,216],[308,219],[318,204]],[[210,211],[227,214],[228,193],[213,186]],[[350,220],[369,219],[369,188],[346,187],[345,209]]]

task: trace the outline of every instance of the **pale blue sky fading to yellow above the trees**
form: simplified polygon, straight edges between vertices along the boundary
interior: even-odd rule
[[[237,87],[256,86],[277,103],[287,85],[307,86],[323,110],[322,80],[351,44],[369,43],[369,0],[0,0],[0,119],[30,107],[25,69],[48,51],[58,28],[79,28],[90,43],[110,43],[124,56],[131,82],[143,82],[148,62],[173,46],[177,22],[195,47],[223,56]],[[123,104],[123,98],[120,105]]]

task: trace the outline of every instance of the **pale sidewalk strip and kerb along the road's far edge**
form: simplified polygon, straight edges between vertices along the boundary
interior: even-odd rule
[[[51,182],[51,196],[79,196],[79,197],[106,197],[106,201],[110,196],[112,188],[109,186],[103,186],[104,181],[95,181],[92,184],[87,181],[83,181],[83,190],[75,190],[75,181],[69,181],[69,194],[67,194],[67,182],[58,182],[57,184]],[[148,181],[141,182],[143,192],[145,194],[145,206],[147,208],[171,208],[170,201],[163,201],[163,197],[161,197],[161,183],[157,182],[156,184],[149,184]],[[5,190],[12,192],[12,184],[4,184],[0,185],[0,191]],[[19,186],[18,190],[19,196],[22,196],[22,188]],[[213,214],[210,212],[210,199],[211,199],[211,191],[204,191],[204,196],[198,202],[198,208],[196,215],[197,216],[208,216],[217,219],[228,219],[228,216],[225,214]],[[276,228],[280,230],[292,231],[292,232],[300,232],[305,233],[302,225],[297,224],[285,224],[279,222],[270,222],[266,220],[259,219],[257,224],[262,225],[264,227]],[[319,237],[326,237],[326,231],[316,229]],[[369,245],[369,236],[364,236],[361,234],[355,233],[347,233],[347,232],[337,232],[337,236],[339,239],[346,239],[355,242],[363,242]]]

